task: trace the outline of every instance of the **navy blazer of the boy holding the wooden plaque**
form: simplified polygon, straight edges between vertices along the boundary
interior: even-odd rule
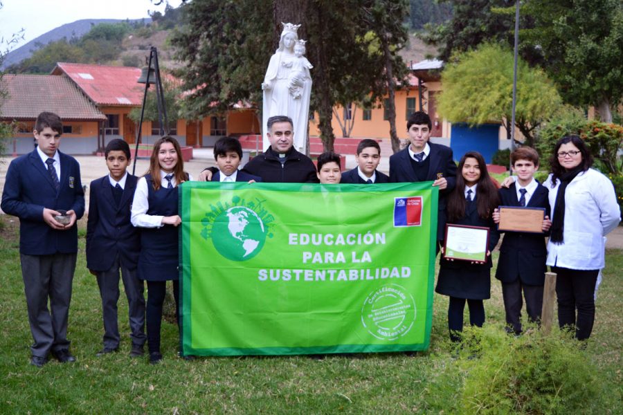
[[[500,205],[518,206],[515,183],[510,187],[501,187],[498,191]],[[545,215],[550,216],[548,189],[539,183],[527,203],[528,208],[545,208]],[[541,286],[545,283],[545,260],[548,250],[545,246],[545,233],[505,232],[496,278],[501,282],[511,283],[519,278],[522,284]]]

